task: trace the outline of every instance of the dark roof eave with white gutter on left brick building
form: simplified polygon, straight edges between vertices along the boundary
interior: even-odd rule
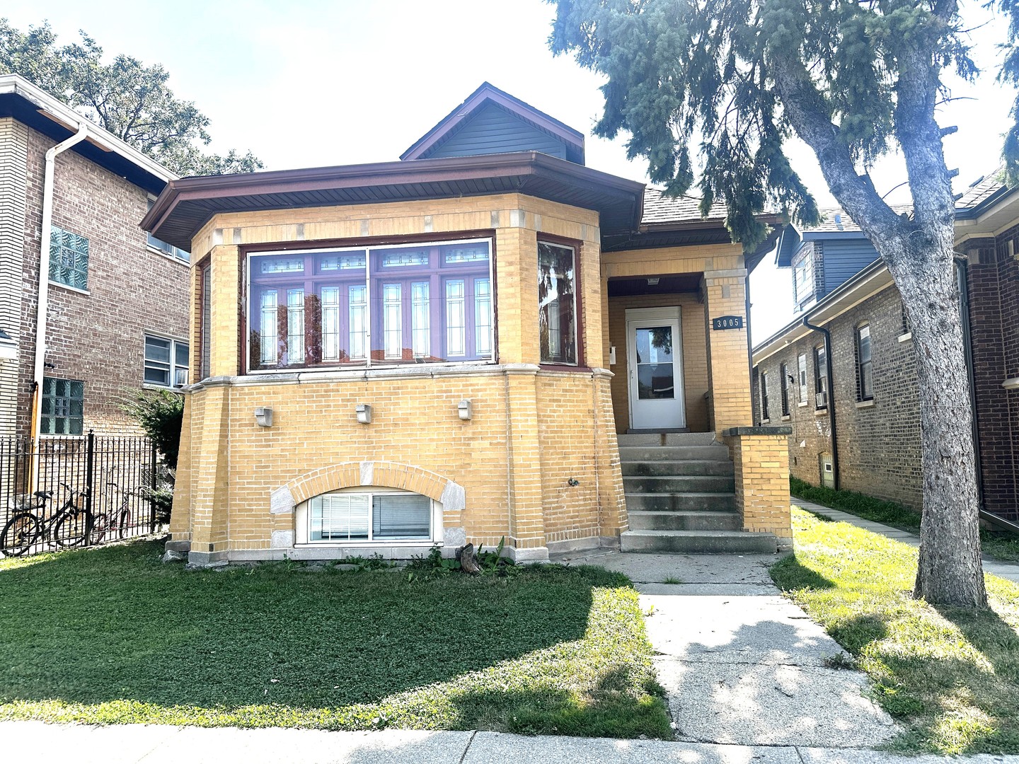
[[[88,138],[71,150],[151,194],[159,194],[177,177],[17,74],[0,75],[0,117],[12,117],[57,142],[70,138],[85,122]]]

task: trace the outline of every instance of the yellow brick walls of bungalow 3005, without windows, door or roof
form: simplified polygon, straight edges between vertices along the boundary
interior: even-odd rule
[[[202,329],[199,272],[211,264],[211,378],[186,396],[171,544],[210,563],[368,549],[407,556],[433,541],[451,553],[465,539],[488,546],[500,537],[518,559],[542,559],[556,548],[618,539],[628,527],[615,437],[622,403],[619,377],[607,367],[610,344],[618,353],[625,344],[616,337],[626,306],[608,299],[608,280],[699,277],[701,293],[676,295],[672,305],[683,310],[688,418],[707,430],[751,424],[747,330],[705,327],[709,316],[746,316],[746,272],[738,245],[601,254],[598,223],[590,210],[520,194],[215,215],[192,248],[195,348]],[[314,249],[321,241],[425,233],[455,238],[466,231],[490,231],[494,239],[496,363],[243,375],[245,319],[237,306],[245,302],[246,248]],[[541,235],[579,243],[586,367],[539,363]],[[199,359],[192,353],[194,378]],[[616,373],[625,363],[618,354]],[[473,405],[468,421],[457,416],[465,398]],[[373,406],[371,424],[356,421],[358,403]],[[273,410],[271,427],[257,426],[258,406]],[[757,467],[785,480],[783,463],[776,456]],[[404,545],[296,543],[307,522],[305,499],[350,486],[438,496],[441,532],[433,527],[431,540]]]

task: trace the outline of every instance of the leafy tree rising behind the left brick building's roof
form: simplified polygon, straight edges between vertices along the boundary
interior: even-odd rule
[[[81,34],[81,43],[58,46],[49,22],[22,33],[0,18],[0,73],[20,74],[179,175],[262,168],[250,151],[202,151],[211,140],[209,118],[173,95],[162,65],[146,66],[125,55],[104,64],[103,49]]]

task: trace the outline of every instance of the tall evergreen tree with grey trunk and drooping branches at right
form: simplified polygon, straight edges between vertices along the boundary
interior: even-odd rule
[[[729,208],[733,239],[764,237],[765,207],[818,220],[793,171],[796,134],[828,187],[874,244],[902,294],[920,388],[923,516],[915,594],[983,606],[972,412],[954,279],[955,202],[936,120],[944,72],[972,78],[957,0],[550,0],[554,53],[605,75],[595,132],[630,133],[631,159],[647,159],[668,194],[694,182],[706,213]],[[990,0],[1010,14],[1000,77],[1019,81],[1019,0]],[[1019,117],[1019,101],[1013,110]],[[1019,124],[1019,123],[1017,123]],[[868,171],[893,148],[905,160],[913,212],[896,214]],[[1019,181],[1019,126],[1006,168]]]

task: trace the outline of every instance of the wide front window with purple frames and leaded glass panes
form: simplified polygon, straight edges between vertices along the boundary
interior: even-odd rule
[[[249,368],[494,359],[490,239],[249,258]]]

